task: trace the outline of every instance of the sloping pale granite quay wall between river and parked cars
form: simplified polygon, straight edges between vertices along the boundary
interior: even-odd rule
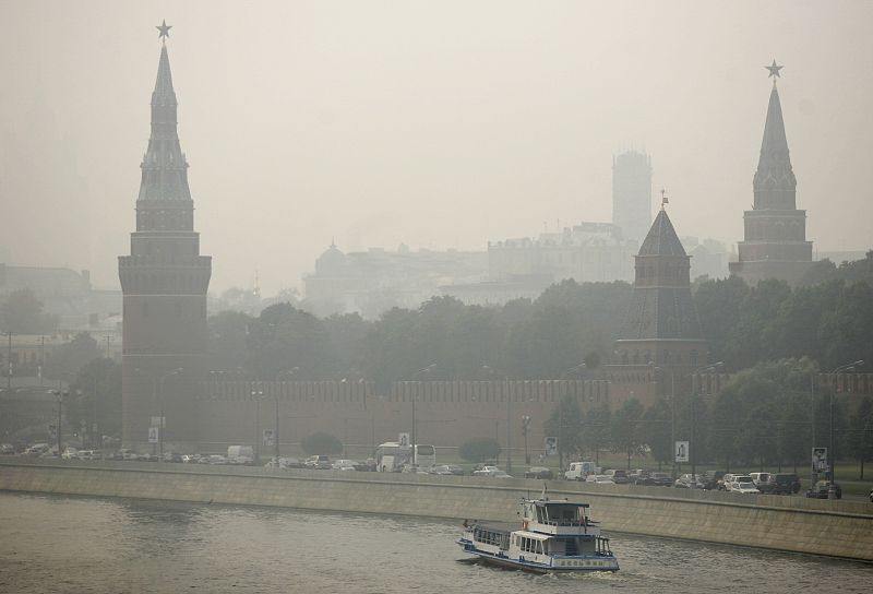
[[[0,490],[164,499],[447,519],[517,520],[542,482],[148,463],[0,462]],[[873,561],[873,504],[549,482],[591,504],[607,533],[633,533]]]

